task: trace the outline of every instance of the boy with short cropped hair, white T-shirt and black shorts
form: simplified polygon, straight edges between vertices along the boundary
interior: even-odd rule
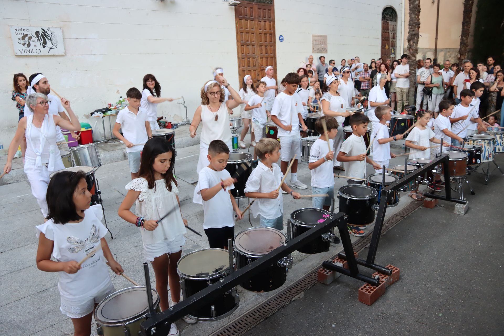
[[[210,248],[227,249],[227,238],[234,238],[233,210],[238,219],[241,212],[230,190],[234,179],[225,169],[229,160],[229,147],[222,140],[214,140],[208,146],[208,161],[199,174],[196,191],[203,199],[203,229]],[[195,203],[200,203],[196,198]]]

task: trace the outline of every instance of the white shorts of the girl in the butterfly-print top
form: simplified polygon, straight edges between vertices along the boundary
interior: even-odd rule
[[[72,299],[61,296],[59,310],[71,318],[84,317],[94,310],[95,303],[100,303],[113,292],[115,288],[109,279],[108,283],[94,295],[82,295]]]

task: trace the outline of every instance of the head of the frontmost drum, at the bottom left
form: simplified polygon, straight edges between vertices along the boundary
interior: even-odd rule
[[[152,290],[152,301],[158,301],[158,294]],[[110,294],[96,307],[96,320],[105,324],[128,321],[149,311],[145,287],[124,288]]]

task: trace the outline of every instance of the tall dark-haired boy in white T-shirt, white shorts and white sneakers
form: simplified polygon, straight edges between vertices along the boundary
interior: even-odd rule
[[[278,138],[282,147],[282,174],[287,173],[287,167],[294,155],[296,159],[290,169],[290,187],[306,189],[307,186],[297,179],[297,161],[301,156],[299,125],[303,132],[308,129],[304,124],[301,113],[303,105],[296,93],[299,85],[299,76],[289,73],[285,76],[285,91],[278,94],[271,109],[271,121],[278,125]]]

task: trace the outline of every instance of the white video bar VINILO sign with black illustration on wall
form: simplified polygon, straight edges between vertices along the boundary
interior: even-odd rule
[[[65,55],[61,28],[11,26],[11,38],[15,55]]]

